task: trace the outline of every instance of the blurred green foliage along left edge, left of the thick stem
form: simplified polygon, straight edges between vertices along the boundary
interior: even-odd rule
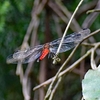
[[[6,58],[21,45],[26,33],[33,0],[0,0],[0,100],[22,100],[15,65],[7,65]]]

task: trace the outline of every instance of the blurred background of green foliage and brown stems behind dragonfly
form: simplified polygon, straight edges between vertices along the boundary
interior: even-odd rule
[[[48,86],[36,91],[33,88],[53,77],[72,50],[60,54],[61,62],[57,65],[47,57],[39,63],[24,65],[7,64],[6,58],[19,49],[61,37],[79,1],[0,0],[0,100],[43,100]],[[100,0],[84,0],[67,34],[83,28],[90,28],[91,32],[99,29],[99,12],[86,14],[90,9],[100,9]],[[100,41],[99,35],[91,37],[89,42]],[[80,46],[66,68],[86,51]],[[90,68],[89,60],[88,57],[64,76],[54,100],[80,100],[81,80]]]

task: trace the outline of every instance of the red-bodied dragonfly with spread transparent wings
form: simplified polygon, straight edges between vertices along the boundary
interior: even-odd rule
[[[66,52],[74,48],[89,34],[90,34],[90,29],[83,29],[79,32],[74,32],[72,34],[65,36],[59,53]],[[52,42],[48,42],[43,45],[37,45],[33,48],[29,48],[23,51],[19,50],[7,57],[7,63],[16,64],[18,63],[18,61],[20,61],[21,63],[29,63],[35,60],[41,61],[47,55],[48,57],[53,58],[53,56],[57,52],[60,42],[61,38],[58,38]]]

